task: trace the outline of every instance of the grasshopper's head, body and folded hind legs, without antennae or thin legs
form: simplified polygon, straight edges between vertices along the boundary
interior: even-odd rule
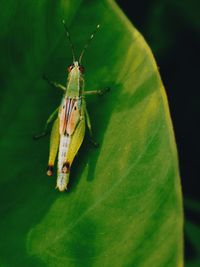
[[[69,68],[68,82],[54,122],[47,174],[52,174],[58,151],[57,184],[60,191],[67,189],[70,167],[85,135],[86,105],[83,95],[82,66],[75,61]]]

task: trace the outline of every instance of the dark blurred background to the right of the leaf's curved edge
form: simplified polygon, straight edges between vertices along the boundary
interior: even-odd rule
[[[185,219],[199,226],[200,1],[117,3],[142,33],[159,66],[178,147]],[[188,262],[199,257],[190,236],[185,231]]]

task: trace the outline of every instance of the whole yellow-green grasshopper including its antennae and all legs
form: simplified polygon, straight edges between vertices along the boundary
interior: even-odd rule
[[[53,175],[54,163],[58,154],[57,164],[57,182],[56,188],[59,191],[67,190],[69,183],[69,175],[72,162],[76,156],[85,136],[86,125],[94,145],[97,145],[92,139],[92,129],[89,114],[86,108],[85,95],[102,95],[109,90],[85,91],[84,90],[84,67],[81,65],[82,57],[93,39],[96,31],[99,29],[97,25],[95,31],[91,34],[86,42],[79,59],[75,58],[74,46],[71,42],[69,31],[63,20],[66,36],[72,50],[73,63],[67,68],[68,78],[66,86],[57,82],[50,81],[46,76],[47,82],[56,88],[63,90],[63,97],[60,106],[50,115],[46,122],[46,127],[53,122],[50,136],[50,152],[47,167],[47,175]],[[35,136],[39,138],[46,135],[46,130]]]

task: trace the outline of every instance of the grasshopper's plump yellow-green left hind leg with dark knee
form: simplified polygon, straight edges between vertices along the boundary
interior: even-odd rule
[[[58,152],[60,134],[59,134],[59,118],[54,121],[52,130],[51,130],[51,138],[50,138],[50,152],[49,152],[49,161],[47,167],[47,175],[51,176],[53,174],[53,166],[55,162],[55,158]]]

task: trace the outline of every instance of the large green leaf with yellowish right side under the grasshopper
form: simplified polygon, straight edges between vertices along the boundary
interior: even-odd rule
[[[1,25],[1,266],[183,266],[182,199],[166,95],[152,53],[113,1],[6,1]],[[101,24],[83,65],[95,139],[71,189],[46,177],[49,138],[33,141],[62,93],[71,51]]]

